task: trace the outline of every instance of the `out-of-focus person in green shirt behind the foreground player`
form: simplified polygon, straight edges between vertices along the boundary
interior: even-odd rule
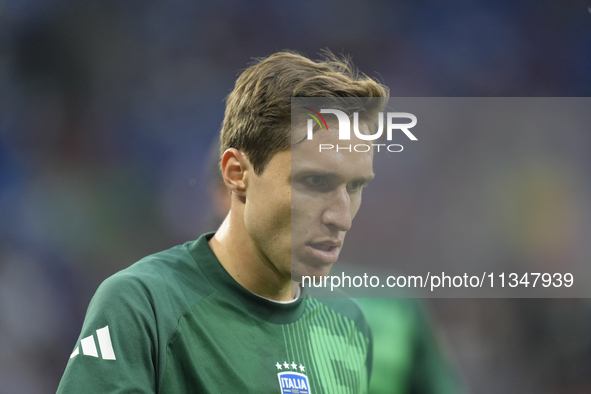
[[[205,187],[211,210],[203,229],[218,228],[230,210],[230,194],[219,169],[219,142],[210,147]],[[362,276],[361,267],[339,260],[331,271],[339,276]],[[375,272],[374,272],[375,273]],[[387,274],[392,274],[389,272]],[[384,273],[383,276],[386,276]],[[373,339],[372,373],[368,394],[460,394],[465,390],[420,300],[359,298]]]

